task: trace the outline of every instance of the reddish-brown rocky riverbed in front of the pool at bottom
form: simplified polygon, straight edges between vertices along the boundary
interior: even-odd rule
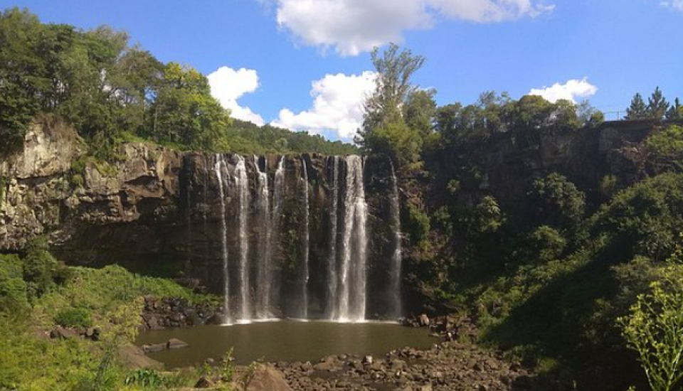
[[[292,390],[554,390],[519,363],[469,343],[403,348],[386,357],[331,355],[319,363],[276,363]]]

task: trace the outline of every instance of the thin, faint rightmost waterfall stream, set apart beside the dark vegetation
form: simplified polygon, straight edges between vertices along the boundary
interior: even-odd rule
[[[396,319],[401,316],[401,205],[398,195],[398,178],[396,171],[391,163],[391,229],[393,230],[393,254],[391,255],[391,265],[389,269],[389,294],[391,301],[391,311],[389,316]]]

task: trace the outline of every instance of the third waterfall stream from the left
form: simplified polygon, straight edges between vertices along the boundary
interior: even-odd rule
[[[256,213],[260,235],[258,237],[258,263],[256,268],[256,317],[270,318],[270,280],[272,252],[270,227],[270,190],[268,188],[268,159],[265,159],[264,169],[261,171],[258,156],[254,155],[254,166],[258,173],[258,188],[256,191]]]

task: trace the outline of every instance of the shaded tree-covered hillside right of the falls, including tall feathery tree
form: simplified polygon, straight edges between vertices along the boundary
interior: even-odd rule
[[[588,102],[486,92],[437,107],[433,90],[411,84],[423,58],[396,45],[372,58],[380,77],[359,141],[398,163],[406,281],[423,310],[469,314],[480,341],[566,384],[646,384],[627,350],[644,329],[628,329],[627,343],[617,319],[665,284],[665,259],[683,246],[678,100],[669,105],[659,88],[647,103],[636,95],[628,119],[647,120],[637,132],[650,136],[634,139],[637,152],[618,150],[638,133],[615,125],[605,163],[595,154],[610,145],[598,140],[610,124]]]

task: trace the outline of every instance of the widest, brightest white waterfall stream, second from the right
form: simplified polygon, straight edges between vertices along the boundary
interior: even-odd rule
[[[366,223],[368,208],[363,185],[363,159],[346,157],[344,256],[339,278],[339,321],[363,321],[366,300]]]

